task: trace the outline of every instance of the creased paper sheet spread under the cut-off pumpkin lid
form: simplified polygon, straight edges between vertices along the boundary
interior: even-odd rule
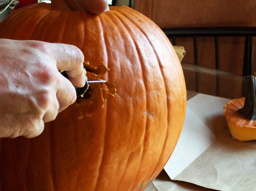
[[[228,101],[203,94],[189,99],[180,139],[164,168],[172,180],[219,191],[256,191],[256,141],[232,138],[223,114]]]

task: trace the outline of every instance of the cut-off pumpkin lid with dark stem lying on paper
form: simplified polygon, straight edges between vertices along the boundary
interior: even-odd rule
[[[229,131],[239,141],[256,140],[256,78],[245,77],[245,97],[228,102],[224,108]]]

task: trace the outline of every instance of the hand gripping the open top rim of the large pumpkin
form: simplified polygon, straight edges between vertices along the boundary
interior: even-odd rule
[[[52,10],[58,11],[88,11],[101,14],[108,7],[108,0],[52,0]]]

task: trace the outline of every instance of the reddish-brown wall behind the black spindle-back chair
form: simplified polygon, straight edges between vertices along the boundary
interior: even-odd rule
[[[134,9],[160,28],[256,26],[255,0],[135,0]],[[242,74],[244,40],[243,37],[219,39],[221,69]],[[180,39],[177,45],[184,46],[187,52],[183,62],[193,63],[193,40]],[[198,50],[199,64],[215,67],[214,39],[198,38]]]

